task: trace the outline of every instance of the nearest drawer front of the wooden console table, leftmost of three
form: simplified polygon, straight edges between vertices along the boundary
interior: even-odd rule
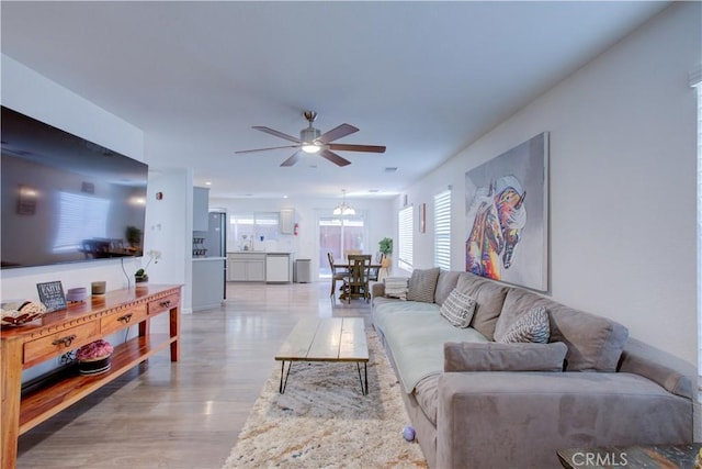
[[[69,327],[24,344],[24,366],[38,364],[100,338],[98,321]]]

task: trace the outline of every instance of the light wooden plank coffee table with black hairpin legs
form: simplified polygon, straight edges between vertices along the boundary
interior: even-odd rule
[[[279,388],[281,394],[285,392],[293,361],[355,361],[361,392],[363,395],[369,393],[369,344],[363,317],[302,320],[281,346],[275,360],[282,361]],[[361,364],[365,380],[361,377]]]

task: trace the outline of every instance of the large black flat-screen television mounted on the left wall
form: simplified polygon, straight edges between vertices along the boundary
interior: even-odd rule
[[[144,249],[148,166],[1,107],[1,267]]]

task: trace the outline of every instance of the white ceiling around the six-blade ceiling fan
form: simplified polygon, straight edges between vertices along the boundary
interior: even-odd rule
[[[12,2],[2,53],[146,133],[152,166],[193,167],[214,197],[399,193],[668,2]],[[304,110],[339,168],[256,130]],[[396,172],[385,168],[397,167]],[[370,192],[370,191],[378,192]]]

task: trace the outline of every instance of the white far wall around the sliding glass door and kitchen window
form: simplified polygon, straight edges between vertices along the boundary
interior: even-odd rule
[[[335,206],[339,205],[339,199],[210,199],[210,209],[220,209],[228,213],[233,212],[278,212],[281,209],[295,209],[295,222],[299,224],[297,236],[282,236],[279,243],[281,250],[290,250],[297,259],[313,259],[312,277],[316,279],[319,275],[319,232],[317,230],[317,217],[319,215],[331,215]],[[388,199],[351,199],[347,202],[356,210],[356,214],[364,214],[369,228],[367,253],[377,252],[378,242],[385,236],[393,237],[395,227],[395,212],[393,202]],[[231,243],[227,246],[229,250],[236,250]],[[325,253],[321,253],[326,256]],[[326,258],[325,258],[326,259]]]

